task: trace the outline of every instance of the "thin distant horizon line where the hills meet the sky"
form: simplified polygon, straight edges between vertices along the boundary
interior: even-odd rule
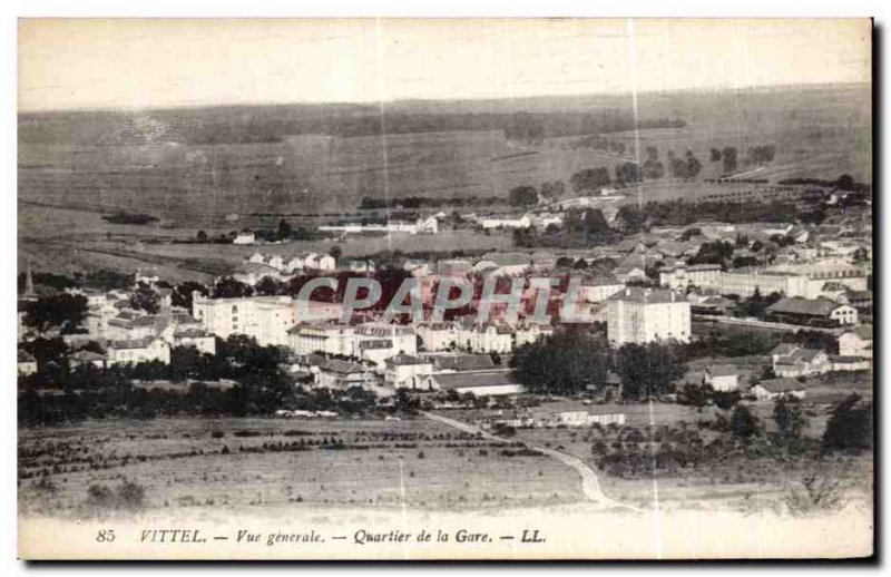
[[[793,84],[771,84],[771,85],[748,85],[748,86],[706,86],[706,87],[687,87],[687,88],[673,88],[673,89],[663,89],[663,90],[640,90],[637,92],[638,98],[640,96],[664,96],[664,95],[677,95],[677,94],[685,94],[685,92],[697,92],[697,94],[718,94],[718,92],[733,92],[733,91],[770,91],[770,90],[782,90],[782,89],[809,89],[809,90],[821,90],[828,88],[853,88],[853,87],[872,87],[872,79],[868,81],[845,81],[845,82],[831,82],[831,81],[821,81],[821,82],[793,82]],[[443,98],[396,98],[392,100],[291,100],[291,101],[232,101],[232,102],[205,102],[205,104],[179,104],[179,105],[163,105],[163,106],[120,106],[120,107],[109,107],[109,106],[97,106],[97,107],[72,107],[72,108],[42,108],[42,109],[18,109],[16,111],[17,116],[21,115],[55,115],[55,114],[89,114],[89,113],[153,113],[153,111],[175,111],[175,110],[197,110],[202,108],[273,108],[273,107],[286,107],[286,106],[369,106],[369,107],[381,107],[383,105],[399,105],[399,104],[408,104],[408,102],[505,102],[510,100],[536,100],[536,99],[572,99],[572,98],[591,98],[591,97],[604,97],[604,98],[621,98],[621,97],[633,97],[634,91],[620,91],[620,92],[577,92],[577,94],[565,94],[565,95],[556,95],[556,94],[541,94],[541,95],[530,95],[530,96],[503,96],[503,97],[443,97]]]

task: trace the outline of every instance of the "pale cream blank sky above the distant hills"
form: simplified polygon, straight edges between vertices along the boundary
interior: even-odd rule
[[[869,20],[21,20],[19,109],[870,80]]]

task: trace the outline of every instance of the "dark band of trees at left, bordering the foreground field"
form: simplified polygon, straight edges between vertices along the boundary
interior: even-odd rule
[[[244,335],[217,338],[215,355],[177,346],[170,351],[169,364],[153,361],[108,368],[70,365],[69,349],[61,339],[38,339],[28,346],[38,358],[38,372],[19,376],[19,420],[23,424],[107,417],[270,415],[283,408],[361,413],[376,403],[373,393],[361,389],[302,387],[285,369],[287,351],[261,346]],[[179,390],[138,385],[151,381],[192,384]],[[233,384],[221,387],[226,381]],[[50,390],[60,394],[46,394]]]

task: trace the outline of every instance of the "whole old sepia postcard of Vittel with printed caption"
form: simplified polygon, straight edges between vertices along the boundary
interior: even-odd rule
[[[22,19],[25,559],[873,554],[868,19]]]

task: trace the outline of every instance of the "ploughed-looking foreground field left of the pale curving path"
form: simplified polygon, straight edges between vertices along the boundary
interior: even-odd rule
[[[286,503],[480,508],[575,502],[577,475],[544,456],[423,420],[106,420],[19,431],[23,515],[82,516],[91,485],[128,479],[149,509]]]

